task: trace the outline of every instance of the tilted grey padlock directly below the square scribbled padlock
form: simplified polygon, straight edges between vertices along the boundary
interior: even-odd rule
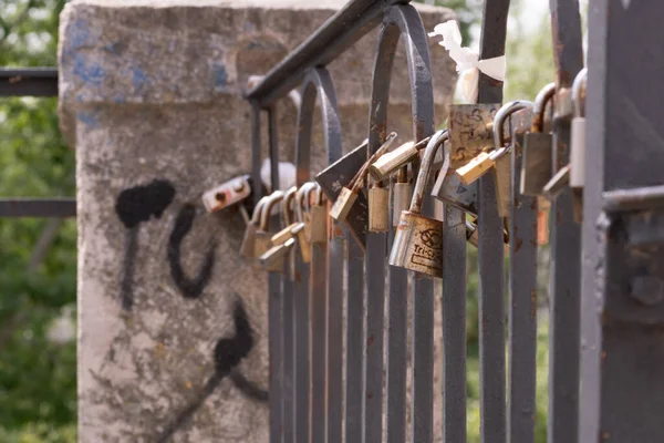
[[[448,136],[449,132],[446,132],[443,141],[445,142]],[[464,185],[459,177],[452,173],[450,143],[445,143],[443,150],[445,152],[443,166],[434,184],[432,196],[466,213],[477,215],[477,183]]]

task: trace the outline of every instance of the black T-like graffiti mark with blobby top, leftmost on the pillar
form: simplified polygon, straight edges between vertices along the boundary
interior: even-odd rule
[[[155,179],[148,185],[124,189],[115,200],[115,214],[127,228],[127,246],[123,262],[121,299],[123,309],[134,306],[134,261],[138,249],[138,228],[152,217],[159,218],[175,197],[175,187],[168,181]]]

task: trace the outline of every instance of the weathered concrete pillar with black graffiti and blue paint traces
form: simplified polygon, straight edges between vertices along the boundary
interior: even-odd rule
[[[342,3],[66,6],[60,99],[77,158],[81,442],[268,441],[257,396],[268,378],[266,277],[239,259],[240,216],[205,214],[200,194],[250,171],[246,80]],[[427,29],[450,17],[422,11]],[[366,136],[376,35],[330,66],[346,151]],[[454,69],[434,42],[432,58],[440,124]],[[405,140],[403,53],[395,66],[390,124]],[[281,159],[292,159],[295,110],[284,100],[278,111]],[[317,172],[321,131],[314,147]],[[242,391],[242,379],[259,392]]]

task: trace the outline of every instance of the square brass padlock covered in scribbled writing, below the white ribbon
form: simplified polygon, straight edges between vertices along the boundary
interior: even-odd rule
[[[494,148],[494,116],[499,103],[455,104],[449,106],[449,144],[453,169],[466,165],[480,153]]]

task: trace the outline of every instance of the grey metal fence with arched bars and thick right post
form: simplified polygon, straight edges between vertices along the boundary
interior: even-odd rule
[[[509,0],[485,1],[480,60],[505,53],[508,8]],[[506,116],[508,110],[498,111],[501,119],[506,117],[508,130],[507,135],[500,134],[500,130],[497,133],[507,137],[508,143],[507,147],[491,146],[495,151],[488,150],[490,153],[485,154],[492,161],[491,169],[496,174],[486,174],[475,182],[476,230],[467,228],[467,212],[449,202],[445,205],[444,223],[432,225],[440,226],[432,235],[442,238],[442,246],[437,246],[442,282],[421,272],[388,266],[388,261],[394,264],[393,257],[398,255],[394,249],[403,247],[400,235],[403,237],[404,230],[413,235],[419,231],[404,222],[405,215],[397,227],[391,223],[387,230],[366,229],[366,219],[362,215],[366,217],[366,198],[373,202],[373,187],[353,197],[356,198],[355,204],[344,223],[334,223],[326,214],[323,218],[315,218],[318,222],[312,229],[320,223],[330,224],[322,240],[317,239],[312,231],[312,245],[305,240],[299,244],[291,241],[281,248],[282,251],[288,250],[287,259],[269,272],[271,441],[396,443],[405,442],[409,434],[413,442],[432,442],[434,340],[442,340],[444,350],[443,441],[467,440],[466,248],[467,239],[474,237],[478,245],[480,280],[481,441],[533,442],[537,227],[538,214],[544,209],[544,200],[538,194],[549,197],[552,214],[548,441],[662,441],[663,424],[655,419],[657,414],[654,411],[658,411],[656,406],[664,399],[664,378],[661,375],[664,372],[657,368],[664,350],[660,336],[661,310],[653,308],[660,303],[664,290],[657,277],[662,272],[658,267],[661,254],[654,238],[657,234],[655,219],[658,220],[661,215],[651,210],[661,200],[662,188],[621,192],[629,196],[625,200],[602,192],[662,183],[656,171],[663,164],[664,151],[654,146],[660,146],[661,130],[655,122],[662,114],[661,106],[656,106],[655,99],[647,96],[647,92],[634,80],[643,75],[647,80],[643,85],[656,84],[663,72],[664,58],[654,53],[649,58],[645,48],[652,48],[649,42],[655,41],[655,35],[662,37],[661,27],[657,28],[653,17],[661,17],[664,7],[618,0],[591,2],[589,92],[584,106],[588,109],[588,136],[583,136],[581,127],[574,126],[575,136],[581,142],[587,141],[589,146],[585,166],[583,156],[569,166],[574,135],[572,124],[577,125],[573,112],[580,116],[580,104],[585,101],[581,86],[572,84],[577,78],[583,79],[584,75],[578,76],[584,60],[579,3],[577,0],[551,0],[550,9],[557,78],[548,80],[556,83],[542,90],[535,110],[521,102],[510,106],[513,110],[526,109],[509,116]],[[639,24],[640,20],[643,24]],[[364,151],[360,146],[342,157],[342,128],[334,84],[325,66],[376,27],[381,28],[381,32],[376,53],[373,54],[375,69],[371,83],[367,144]],[[260,183],[261,112],[269,114],[271,181],[279,183],[279,127],[274,103],[299,86],[302,102],[294,158],[297,185],[304,192],[314,173],[310,171],[309,163],[312,114],[318,97],[326,156],[332,166],[318,175],[317,181],[330,204],[336,205],[339,198],[346,198],[346,195],[340,197],[340,186],[325,186],[331,179],[325,174],[332,174],[338,184],[350,187],[351,178],[367,155],[375,153],[386,141],[390,131],[386,127],[390,79],[400,38],[405,43],[407,55],[415,141],[428,142],[425,152],[429,152],[437,147],[436,144],[443,143],[445,135],[454,138],[453,119],[447,134],[434,134],[427,34],[416,9],[407,1],[353,0],[247,93],[253,110],[253,183]],[[625,42],[622,45],[621,39]],[[619,60],[623,58],[621,51],[630,52],[629,61]],[[646,59],[652,65],[642,65]],[[632,66],[635,73],[630,74],[627,66]],[[546,81],[542,79],[542,83]],[[572,92],[577,96],[572,97]],[[551,105],[547,107],[544,102],[542,107],[542,100],[547,97],[552,97]],[[577,99],[575,106],[572,99]],[[632,100],[641,101],[635,103]],[[502,83],[480,74],[478,103],[499,107],[501,101]],[[546,121],[541,120],[547,115]],[[625,125],[629,127],[625,128]],[[537,134],[543,128],[543,134]],[[644,132],[650,135],[644,135]],[[536,144],[531,140],[539,135],[548,138],[549,151],[548,155],[539,156],[548,168],[540,169],[538,176],[532,169]],[[527,150],[530,143],[531,148]],[[622,148],[619,147],[621,144]],[[627,165],[623,167],[626,146],[630,154]],[[500,156],[498,151],[501,147],[502,153],[509,154]],[[507,162],[507,166],[505,163],[500,165],[499,158]],[[654,163],[647,158],[653,158]],[[609,165],[609,162],[612,164]],[[418,157],[412,165],[415,178]],[[463,174],[459,173],[463,167],[456,172],[453,169],[448,168],[447,174],[457,177]],[[521,169],[525,169],[525,175],[521,175]],[[511,172],[511,175],[505,175],[505,171]],[[584,193],[578,183],[579,177],[575,174],[585,172],[588,186]],[[644,175],[633,176],[641,173]],[[391,202],[400,205],[398,209],[407,209],[396,192],[404,184],[405,176],[402,169],[390,179],[390,184],[385,182],[392,189]],[[501,177],[511,178],[501,183]],[[570,177],[572,183],[568,183]],[[541,182],[542,178],[546,186],[538,188],[541,193],[522,194],[522,186],[531,186],[531,181]],[[505,197],[506,192],[509,198]],[[428,194],[429,190],[426,192],[423,214],[430,217],[433,205]],[[384,195],[384,190],[375,192],[376,198],[378,195]],[[282,196],[273,194],[272,203],[280,198]],[[627,200],[631,203],[624,203]],[[290,199],[288,202],[287,213]],[[505,202],[509,206],[505,207]],[[614,204],[620,208],[612,206]],[[329,207],[328,203],[319,202],[319,205],[323,210]],[[334,206],[332,208],[334,210]],[[398,217],[398,212],[396,214],[395,217]],[[600,214],[604,216],[598,218]],[[539,217],[541,228],[541,214]],[[599,229],[598,219],[603,220]],[[509,220],[507,285],[504,269],[505,220]],[[300,222],[307,222],[305,214]],[[649,234],[636,234],[640,229]],[[430,238],[429,241],[436,243]],[[270,254],[279,250],[278,244],[272,246],[274,250]],[[310,262],[301,254],[295,254],[295,250],[307,248],[311,248]],[[393,257],[388,260],[391,251]],[[639,256],[640,253],[643,256]],[[271,257],[270,254],[262,256],[263,261]],[[629,270],[619,270],[621,260],[626,260],[625,268]],[[290,269],[293,266],[294,272]],[[413,266],[409,268],[413,269]],[[619,277],[614,276],[616,272]],[[434,337],[435,285],[442,285],[443,337]],[[643,297],[634,297],[634,292]],[[408,293],[412,293],[411,356],[406,352]],[[627,297],[629,293],[632,297]],[[344,298],[346,310],[342,312]],[[650,305],[649,300],[655,301]],[[580,309],[581,306],[583,309]],[[386,347],[383,344],[384,331],[387,331]],[[345,343],[342,342],[344,337]],[[580,356],[583,357],[582,365]],[[412,365],[409,395],[406,392],[408,358]],[[342,378],[344,365],[345,378]],[[583,368],[581,374],[580,368]],[[650,390],[649,383],[656,391]],[[406,419],[408,402],[409,420]],[[580,409],[580,404],[583,408]]]

